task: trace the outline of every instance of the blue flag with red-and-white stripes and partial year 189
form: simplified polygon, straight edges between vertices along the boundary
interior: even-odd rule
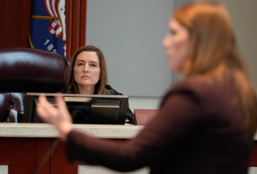
[[[65,0],[32,0],[29,47],[66,57]]]

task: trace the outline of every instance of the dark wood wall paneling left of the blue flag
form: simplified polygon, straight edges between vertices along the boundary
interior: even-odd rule
[[[31,0],[1,0],[0,47],[27,47]]]

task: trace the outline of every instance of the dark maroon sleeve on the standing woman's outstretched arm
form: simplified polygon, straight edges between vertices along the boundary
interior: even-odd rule
[[[197,124],[199,100],[190,90],[170,91],[158,114],[133,139],[97,139],[71,131],[67,157],[119,171],[151,166],[176,151]]]

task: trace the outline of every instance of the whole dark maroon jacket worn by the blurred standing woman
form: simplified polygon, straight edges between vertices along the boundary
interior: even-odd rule
[[[242,129],[234,97],[229,81],[187,79],[166,93],[137,137],[117,142],[71,131],[67,157],[119,171],[247,174],[253,137]]]

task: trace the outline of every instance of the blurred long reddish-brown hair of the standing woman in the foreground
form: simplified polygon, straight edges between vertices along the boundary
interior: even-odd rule
[[[190,34],[191,50],[185,77],[211,75],[225,81],[225,74],[232,74],[243,126],[253,135],[257,126],[256,92],[239,54],[227,9],[217,2],[195,2],[180,7],[173,18]]]

